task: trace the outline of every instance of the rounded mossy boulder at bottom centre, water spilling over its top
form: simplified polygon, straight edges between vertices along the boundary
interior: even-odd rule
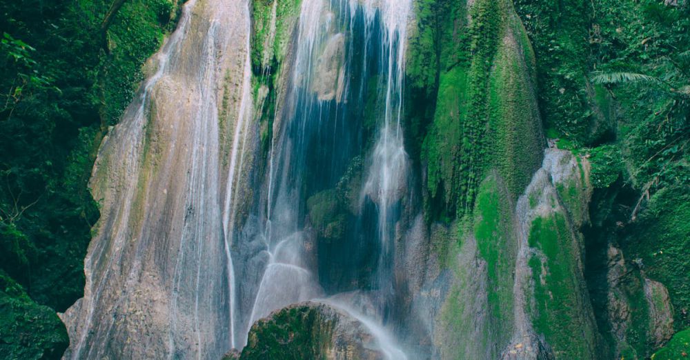
[[[236,355],[235,355],[236,356]],[[239,359],[384,359],[377,341],[346,312],[307,301],[252,326]],[[230,357],[232,359],[232,357]]]

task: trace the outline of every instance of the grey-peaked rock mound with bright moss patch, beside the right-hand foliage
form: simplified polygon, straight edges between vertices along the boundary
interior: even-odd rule
[[[597,357],[600,339],[584,282],[580,232],[590,197],[589,164],[570,152],[547,149],[517,203],[516,327],[522,334],[509,352],[520,354],[520,337],[529,334],[557,359]]]

